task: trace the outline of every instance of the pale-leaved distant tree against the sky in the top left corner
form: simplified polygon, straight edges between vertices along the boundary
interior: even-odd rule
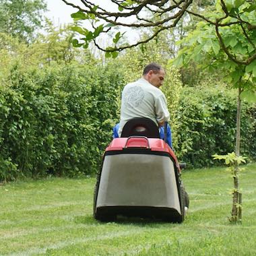
[[[27,42],[42,27],[44,0],[0,0],[0,32]]]

